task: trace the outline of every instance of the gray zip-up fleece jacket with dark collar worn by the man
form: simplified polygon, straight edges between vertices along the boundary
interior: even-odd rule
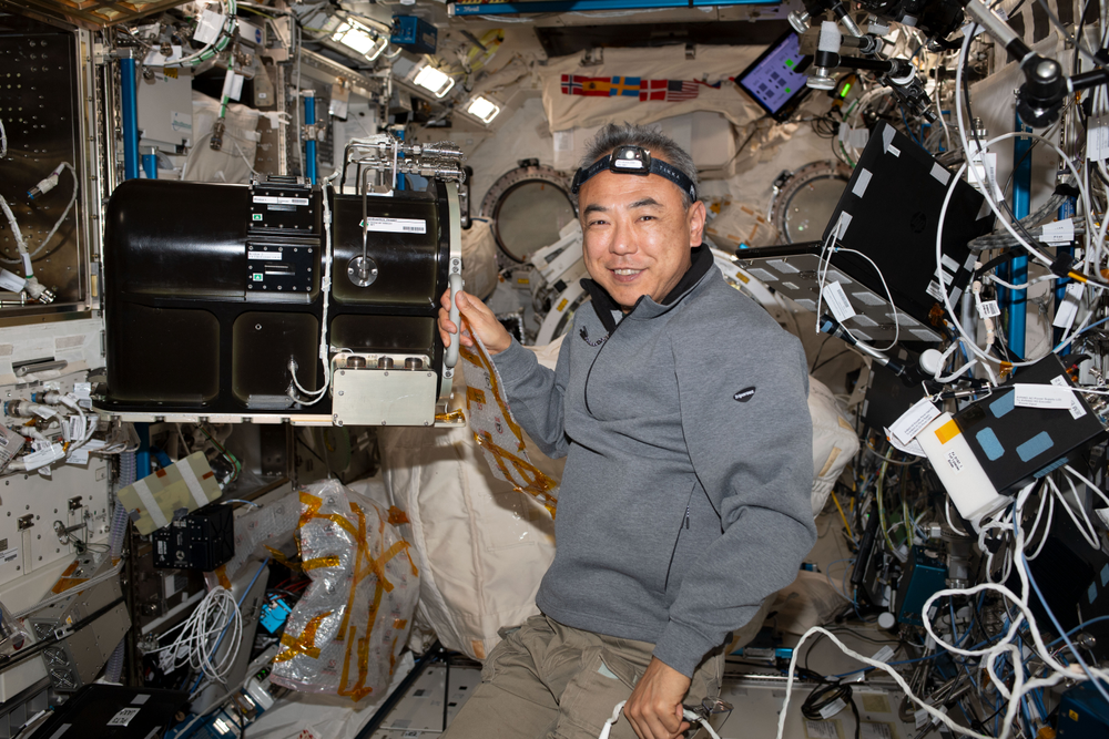
[[[536,603],[652,643],[692,677],[815,541],[804,351],[706,247],[662,305],[644,296],[619,324],[584,285],[593,309],[574,316],[554,371],[515,341],[495,357],[520,425],[567,456]]]

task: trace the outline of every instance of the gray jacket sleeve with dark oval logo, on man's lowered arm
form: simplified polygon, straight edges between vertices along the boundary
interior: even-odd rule
[[[729,333],[736,339],[726,353],[674,341],[690,459],[722,530],[683,576],[654,649],[688,677],[794,581],[816,541],[801,342],[776,326],[736,333],[733,325]]]

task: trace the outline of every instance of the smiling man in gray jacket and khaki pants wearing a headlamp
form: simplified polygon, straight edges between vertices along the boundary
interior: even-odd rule
[[[671,140],[609,125],[573,189],[584,287],[554,371],[476,298],[439,311],[479,337],[512,412],[567,456],[542,615],[489,655],[445,739],[674,739],[714,699],[730,632],[788,585],[815,540],[800,341],[701,245],[696,170]]]

